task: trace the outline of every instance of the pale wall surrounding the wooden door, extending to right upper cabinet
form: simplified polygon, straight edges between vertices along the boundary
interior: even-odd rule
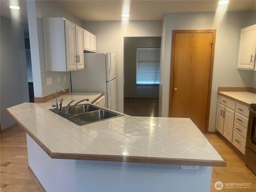
[[[163,21],[161,75],[162,96],[159,114],[168,116],[170,92],[170,53],[172,30],[216,29],[209,131],[215,131],[218,87],[251,87],[253,72],[237,70],[240,30],[256,23],[255,12],[228,12],[221,23],[214,23],[213,12],[167,13]]]

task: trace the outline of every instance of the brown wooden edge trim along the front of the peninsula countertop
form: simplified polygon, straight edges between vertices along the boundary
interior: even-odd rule
[[[54,159],[72,159],[72,160],[94,160],[94,161],[114,161],[114,162],[133,162],[133,163],[152,163],[152,164],[173,164],[173,165],[193,165],[193,166],[213,166],[226,167],[226,161],[223,160],[196,160],[180,158],[157,158],[140,156],[118,156],[118,155],[99,155],[99,154],[73,154],[56,153],[49,150],[32,132],[15,118],[8,109],[6,112],[21,126],[26,133],[46,152],[50,158]]]

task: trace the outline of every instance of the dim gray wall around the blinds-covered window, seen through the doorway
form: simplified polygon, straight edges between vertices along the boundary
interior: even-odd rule
[[[161,47],[161,38],[124,38],[124,98],[158,98],[159,86],[136,86],[137,48]]]

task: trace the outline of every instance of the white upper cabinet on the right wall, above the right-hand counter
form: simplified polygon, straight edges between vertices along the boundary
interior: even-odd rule
[[[242,28],[238,52],[238,69],[256,70],[256,24]]]

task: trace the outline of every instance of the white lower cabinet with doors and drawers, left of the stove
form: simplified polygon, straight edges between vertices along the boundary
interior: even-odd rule
[[[248,106],[218,95],[216,130],[242,154],[245,154],[248,116]]]

